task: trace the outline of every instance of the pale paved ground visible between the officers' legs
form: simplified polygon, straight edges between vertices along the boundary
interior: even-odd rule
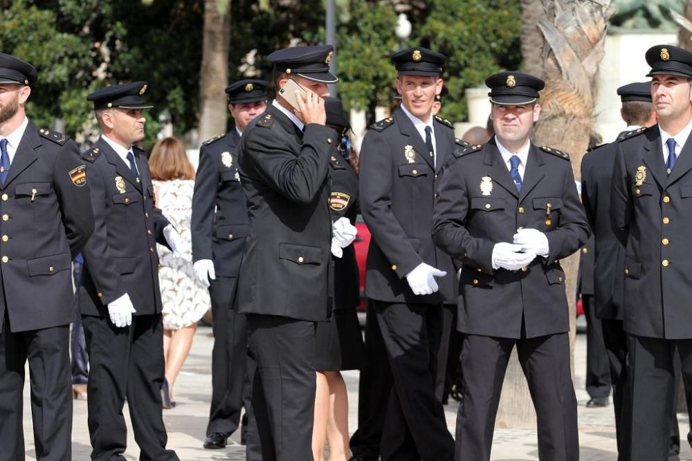
[[[585,408],[588,400],[584,389],[585,374],[585,335],[577,335],[576,343],[576,396],[579,400],[579,440],[582,461],[615,460],[615,430],[612,406],[607,408]],[[206,428],[211,393],[211,349],[212,337],[210,328],[199,328],[194,339],[192,352],[176,383],[176,408],[164,411],[164,420],[168,429],[168,446],[175,449],[183,461],[197,460],[244,460],[244,447],[238,443],[239,434],[233,435],[232,444],[224,450],[204,450],[202,442]],[[28,373],[27,373],[28,376]],[[27,378],[28,379],[28,378]],[[357,422],[358,373],[347,372],[345,379],[349,389],[349,431],[353,433]],[[24,433],[27,445],[27,460],[33,458],[33,435],[28,393],[28,382],[24,391],[25,413]],[[446,406],[449,430],[454,433],[456,402]],[[125,417],[128,420],[127,406]],[[680,414],[680,432],[686,434],[687,417]],[[127,460],[138,459],[138,449],[129,433],[129,449],[125,454]],[[86,402],[76,401],[73,423],[73,460],[89,460],[89,432],[86,428]],[[519,461],[538,460],[536,451],[536,431],[529,429],[497,429],[493,444],[493,460]],[[692,459],[689,446],[684,446],[682,459]]]

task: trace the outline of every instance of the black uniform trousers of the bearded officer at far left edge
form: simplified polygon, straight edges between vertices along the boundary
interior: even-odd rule
[[[70,326],[0,333],[0,461],[24,460],[24,364],[29,361],[37,460],[72,459]]]

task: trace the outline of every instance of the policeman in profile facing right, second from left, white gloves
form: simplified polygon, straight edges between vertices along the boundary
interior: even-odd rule
[[[177,460],[161,416],[163,326],[156,243],[174,254],[180,236],[154,207],[144,138],[146,82],[102,88],[93,102],[102,131],[84,152],[95,229],[84,247],[80,304],[89,352],[91,459],[123,459],[127,404],[140,459]]]

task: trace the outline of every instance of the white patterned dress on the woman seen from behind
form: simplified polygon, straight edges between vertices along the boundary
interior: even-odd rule
[[[192,216],[193,180],[154,180],[156,203],[163,216],[178,230],[183,242],[180,258],[163,245],[156,245],[160,259],[158,281],[163,302],[163,328],[179,330],[198,321],[210,306],[209,292],[194,275],[192,269]]]

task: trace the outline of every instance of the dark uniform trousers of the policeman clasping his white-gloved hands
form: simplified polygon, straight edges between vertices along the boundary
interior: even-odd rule
[[[538,458],[578,461],[576,396],[567,333],[524,339],[464,335],[457,461],[490,459],[502,382],[515,345],[536,408]]]

